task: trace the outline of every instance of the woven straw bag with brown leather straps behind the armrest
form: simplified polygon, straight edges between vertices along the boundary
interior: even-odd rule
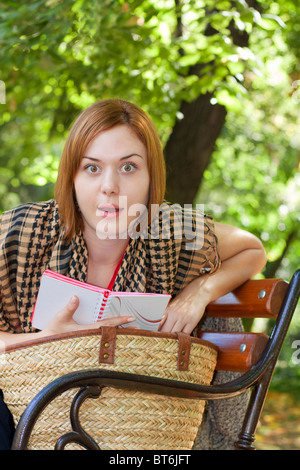
[[[0,388],[17,424],[43,387],[70,372],[109,369],[209,385],[216,360],[214,345],[182,333],[102,327],[10,347],[0,355]],[[45,408],[29,449],[53,449],[58,437],[71,431],[69,410],[76,392],[67,390]],[[204,405],[203,400],[105,387],[99,398],[84,401],[79,418],[103,450],[188,450]]]

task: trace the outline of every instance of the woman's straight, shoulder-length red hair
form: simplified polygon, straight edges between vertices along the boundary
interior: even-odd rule
[[[147,149],[150,175],[149,217],[151,204],[160,205],[163,202],[166,184],[165,162],[161,142],[149,116],[133,103],[120,99],[94,103],[78,116],[70,130],[55,185],[55,199],[68,242],[75,233],[83,229],[74,190],[74,179],[82,157],[88,145],[100,132],[121,124],[129,126]]]

